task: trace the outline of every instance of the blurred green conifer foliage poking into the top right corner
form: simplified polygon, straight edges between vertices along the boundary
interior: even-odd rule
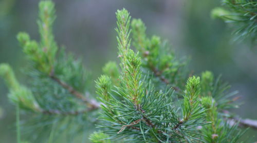
[[[212,16],[232,23],[236,40],[250,37],[256,44],[257,1],[223,0],[222,4],[223,7],[217,7],[212,10]]]

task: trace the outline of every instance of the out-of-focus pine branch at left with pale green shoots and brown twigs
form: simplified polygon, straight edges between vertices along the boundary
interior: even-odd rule
[[[20,41],[24,53],[28,57],[28,60],[32,63],[29,70],[39,71],[39,75],[33,76],[33,80],[43,80],[44,78],[49,77],[51,80],[56,81],[59,85],[61,85],[61,87],[66,89],[70,94],[82,100],[88,106],[88,109],[86,109],[85,111],[98,109],[100,105],[99,103],[97,103],[95,100],[89,100],[85,98],[81,92],[77,91],[74,87],[59,79],[59,75],[56,76],[54,74],[54,70],[57,70],[57,72],[62,76],[69,77],[70,75],[67,71],[72,70],[73,73],[84,76],[84,68],[80,65],[77,65],[79,61],[75,61],[72,57],[67,57],[63,51],[60,51],[60,54],[58,56],[56,54],[58,46],[57,43],[54,41],[54,36],[52,33],[52,25],[54,19],[56,19],[54,4],[51,1],[42,1],[39,4],[39,9],[40,19],[38,20],[38,25],[40,29],[41,42],[38,43],[34,40],[30,40],[29,35],[24,32],[17,35],[17,39]],[[66,58],[65,62],[62,61],[62,58]],[[65,66],[63,66],[62,64],[65,64]],[[3,71],[7,69],[11,70],[8,66],[3,66],[2,68],[4,68]],[[66,72],[63,72],[64,70]],[[22,104],[22,106],[30,108],[35,112],[41,112],[44,114],[75,115],[81,112],[85,112],[77,111],[76,109],[75,111],[62,111],[60,109],[55,109],[56,107],[51,107],[50,110],[45,110],[44,105],[42,105],[42,103],[39,104],[38,101],[34,99],[34,96],[29,89],[27,89],[26,87],[21,87],[19,83],[17,83],[17,81],[14,79],[14,74],[12,73],[12,71],[5,72],[6,75],[8,75],[9,77],[7,77],[7,82],[10,83],[10,87],[13,89],[13,91],[15,91],[15,93],[12,93],[13,95],[11,98],[13,98],[15,102],[20,102],[19,104]],[[71,75],[70,77],[73,76],[74,75]],[[42,79],[42,77],[44,78]],[[79,84],[81,84],[80,81],[76,82],[79,82]],[[37,94],[40,94],[40,90],[35,92]],[[21,97],[22,94],[24,94],[23,97]],[[25,101],[28,103],[25,103]],[[74,103],[74,106],[76,104],[77,103]],[[42,107],[40,107],[39,105],[41,105]]]

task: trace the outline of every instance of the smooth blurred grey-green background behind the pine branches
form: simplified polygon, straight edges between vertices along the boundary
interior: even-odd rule
[[[190,56],[195,74],[211,70],[223,75],[238,90],[243,104],[233,112],[243,118],[257,119],[257,47],[248,41],[235,42],[231,29],[222,20],[212,19],[210,11],[219,1],[120,1],[120,0],[55,0],[57,20],[54,34],[59,45],[82,57],[85,66],[101,74],[108,60],[117,60],[115,12],[126,8],[132,17],[141,18],[147,33],[156,34],[171,43],[177,56]],[[16,34],[26,31],[39,39],[35,0],[0,1],[0,63],[7,62],[21,82],[26,78],[21,68],[26,65]],[[15,110],[7,99],[7,87],[0,79],[0,142],[15,142]],[[257,141],[257,131],[249,130],[244,137]]]

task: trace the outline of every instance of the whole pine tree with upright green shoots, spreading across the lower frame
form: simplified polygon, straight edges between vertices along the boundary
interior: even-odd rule
[[[89,136],[95,143],[240,142],[245,129],[238,126],[257,128],[227,112],[238,107],[237,92],[229,92],[220,76],[191,75],[187,60],[160,37],[146,36],[142,20],[131,21],[125,9],[116,12],[120,67],[106,63],[94,91],[81,59],[54,41],[54,4],[42,1],[39,11],[41,40],[17,35],[28,60],[26,86],[7,63],[0,65],[17,107],[17,142],[85,142],[76,137],[92,133],[95,124],[98,131]],[[28,116],[21,123],[20,110]]]

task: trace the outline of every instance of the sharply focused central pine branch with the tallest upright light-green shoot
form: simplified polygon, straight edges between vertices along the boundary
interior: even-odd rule
[[[100,127],[107,128],[106,133],[109,133],[112,137],[124,138],[130,136],[136,137],[138,140],[144,140],[144,142],[161,142],[166,140],[163,138],[167,138],[169,135],[164,133],[166,130],[164,128],[167,128],[164,124],[168,125],[168,123],[162,123],[159,118],[162,116],[161,113],[168,117],[168,114],[172,112],[169,111],[171,96],[168,98],[166,92],[164,94],[161,91],[155,91],[149,83],[145,82],[146,80],[141,79],[141,58],[138,53],[130,49],[131,17],[125,9],[118,10],[116,15],[118,57],[121,61],[120,83],[115,89],[111,90],[110,77],[103,75],[96,81],[97,93],[104,103],[101,106],[103,114],[100,119],[105,124]],[[118,96],[117,99],[112,91]],[[148,130],[145,135],[144,130]],[[140,134],[141,137],[130,132]]]

